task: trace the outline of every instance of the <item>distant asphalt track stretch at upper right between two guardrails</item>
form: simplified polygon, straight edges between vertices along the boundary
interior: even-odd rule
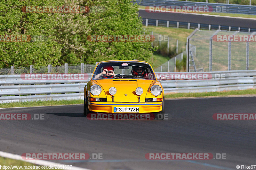
[[[174,13],[174,12],[163,12],[163,13],[150,12],[149,13],[149,12],[146,12],[145,10],[140,10],[139,16],[141,16],[141,18],[161,19],[161,20],[169,20],[169,21],[256,28],[255,19],[228,18],[228,17],[225,18],[225,17],[218,17],[218,16],[194,15],[194,14],[188,14],[188,13]]]

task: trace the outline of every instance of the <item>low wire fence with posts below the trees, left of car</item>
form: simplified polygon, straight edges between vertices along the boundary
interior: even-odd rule
[[[49,64],[48,67],[34,67],[31,65],[30,68],[15,68],[14,66],[11,66],[11,68],[0,68],[0,75],[29,73],[92,73],[96,64],[65,64],[56,67],[52,67],[51,64]]]

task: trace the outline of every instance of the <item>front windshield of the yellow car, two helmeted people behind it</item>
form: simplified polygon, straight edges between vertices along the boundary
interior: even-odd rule
[[[92,80],[106,78],[132,78],[156,80],[155,74],[148,63],[118,61],[99,63]]]

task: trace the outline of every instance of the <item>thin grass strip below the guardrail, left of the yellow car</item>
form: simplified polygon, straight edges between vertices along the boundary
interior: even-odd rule
[[[49,101],[25,101],[25,102],[12,102],[1,103],[0,108],[5,107],[29,107],[29,106],[56,106],[56,105],[75,105],[84,104],[84,100],[49,100]]]

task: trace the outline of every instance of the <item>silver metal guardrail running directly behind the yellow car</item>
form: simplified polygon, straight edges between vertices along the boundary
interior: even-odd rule
[[[25,80],[21,75],[0,75],[0,103],[83,100],[84,86],[91,76],[92,74],[88,74],[83,80]],[[166,81],[161,81],[164,93],[216,92],[250,89],[256,86],[256,70],[156,72],[156,76],[167,77]]]

